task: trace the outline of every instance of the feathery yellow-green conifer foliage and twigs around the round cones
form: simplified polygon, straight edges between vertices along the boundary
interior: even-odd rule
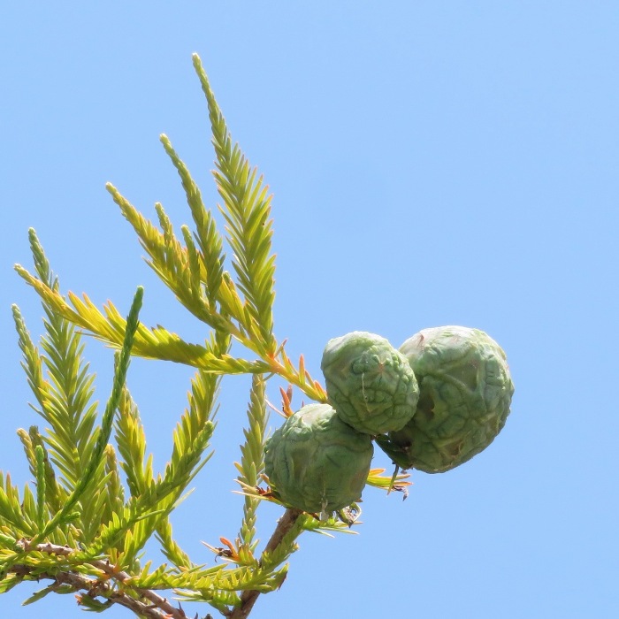
[[[141,288],[126,317],[111,302],[98,309],[85,294],[62,294],[33,230],[34,271],[16,265],[39,294],[44,311],[44,332],[35,343],[19,308],[13,307],[32,408],[43,429],[31,425],[18,431],[34,489],[18,488],[8,473],[0,472],[0,592],[22,581],[50,581],[27,604],[51,592],[73,593],[83,608],[96,612],[120,604],[141,617],[180,619],[186,616],[182,608],[158,593],[172,590],[182,600],[207,602],[225,616],[245,617],[260,593],[283,583],[286,562],[303,531],[349,531],[359,513],[355,505],[322,518],[298,508],[283,509],[260,549],[259,507],[262,501],[279,503],[264,475],[266,382],[279,377],[313,401],[327,398],[305,370],[303,358],[292,363],[275,337],[271,196],[233,143],[197,56],[194,65],[209,112],[224,233],[166,136],[161,141],[180,175],[193,228],[184,225],[178,235],[161,204],[156,205],[155,224],[116,187],[107,188],[133,226],[150,267],[203,322],[203,342],[187,342],[162,326],[141,324]],[[224,248],[231,251],[229,260]],[[226,270],[229,264],[231,271]],[[117,350],[111,395],[103,410],[94,399],[95,377],[83,358],[83,333]],[[233,340],[245,350],[242,356],[231,354]],[[140,412],[126,384],[131,355],[195,368],[187,408],[172,432],[161,473],[153,468]],[[192,562],[173,538],[170,515],[210,458],[219,380],[225,374],[251,375],[247,424],[236,463],[244,502],[238,537],[221,538],[221,547],[210,546],[213,565],[203,566]],[[289,395],[283,395],[283,409],[289,410]],[[367,483],[386,490],[403,490],[408,484],[406,476],[390,479],[382,472],[371,470]],[[165,562],[143,562],[149,541],[158,543]]]

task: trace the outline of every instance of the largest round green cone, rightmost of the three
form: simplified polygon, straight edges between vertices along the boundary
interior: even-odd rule
[[[403,469],[454,469],[485,449],[509,414],[514,385],[505,353],[485,332],[424,329],[400,348],[419,382],[416,415],[377,443]]]

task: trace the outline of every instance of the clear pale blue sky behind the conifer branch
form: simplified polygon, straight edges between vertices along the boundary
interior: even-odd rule
[[[15,430],[38,423],[11,320],[17,302],[41,331],[38,300],[12,271],[31,265],[28,226],[64,291],[126,311],[143,284],[147,324],[204,335],[103,188],[188,222],[164,132],[216,203],[194,51],[275,195],[275,330],[289,354],[319,376],[325,342],[346,332],[399,346],[424,327],[475,326],[505,348],[516,383],[482,455],[414,473],[405,502],[368,489],[360,534],[303,536],[287,582],[252,616],[619,616],[610,0],[3,3],[0,469],[28,479]],[[104,401],[111,354],[87,352]],[[190,375],[131,367],[160,468]],[[238,527],[247,387],[224,382],[216,455],[173,520],[195,561],[212,561],[200,540]],[[263,539],[278,515],[264,509]],[[0,615],[78,616],[72,596],[21,608],[38,588],[0,597]]]

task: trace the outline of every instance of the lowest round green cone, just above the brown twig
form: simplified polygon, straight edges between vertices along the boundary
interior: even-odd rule
[[[264,447],[264,470],[279,499],[311,513],[358,501],[374,453],[328,404],[308,404],[289,416]]]

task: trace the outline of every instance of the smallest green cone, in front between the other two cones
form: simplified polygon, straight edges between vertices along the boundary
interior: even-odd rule
[[[329,340],[320,367],[329,400],[357,432],[400,430],[415,415],[415,374],[385,338],[355,331]]]

